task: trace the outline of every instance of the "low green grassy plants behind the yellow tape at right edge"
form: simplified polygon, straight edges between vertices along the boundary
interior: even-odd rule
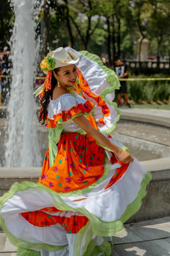
[[[159,78],[165,77],[162,74],[155,74],[152,76],[130,76],[133,78]],[[168,77],[168,76],[167,76]],[[135,102],[142,100],[150,103],[157,100],[168,100],[170,96],[170,81],[127,81],[128,94]]]

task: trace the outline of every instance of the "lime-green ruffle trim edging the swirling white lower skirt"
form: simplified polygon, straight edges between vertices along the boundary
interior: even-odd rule
[[[90,220],[93,233],[95,233],[96,235],[99,235],[99,236],[113,236],[113,235],[116,235],[116,234],[119,234],[120,232],[122,232],[124,230],[123,223],[125,221],[127,221],[132,215],[134,215],[136,212],[139,211],[139,209],[142,205],[142,199],[146,196],[146,193],[147,193],[146,187],[149,184],[151,177],[152,177],[152,175],[148,172],[145,179],[143,179],[143,181],[141,183],[141,189],[140,189],[136,199],[131,204],[129,204],[127,206],[125,212],[122,214],[120,219],[115,220],[115,221],[110,221],[110,222],[102,221],[98,217],[96,217],[95,215],[90,213],[87,209],[73,208],[73,207],[67,205],[64,202],[64,200],[59,196],[59,194],[56,193],[55,191],[52,191],[48,187],[42,186],[40,184],[35,184],[30,181],[14,183],[11,186],[10,190],[6,194],[4,194],[4,196],[2,196],[0,198],[0,209],[3,206],[3,204],[5,203],[5,201],[7,199],[9,199],[10,197],[12,197],[18,191],[23,191],[23,190],[26,190],[29,188],[44,190],[44,191],[47,191],[53,197],[53,202],[54,202],[53,206],[55,206],[57,209],[59,209],[61,211],[75,211],[76,210],[79,213],[82,213],[84,216],[86,216]],[[56,199],[54,198],[54,196]],[[27,243],[21,239],[14,237],[7,230],[7,227],[6,227],[5,222],[2,219],[2,217],[0,217],[0,226],[2,227],[4,232],[9,237],[11,243],[17,247],[24,247],[26,249],[29,249],[31,247],[32,248],[43,248],[47,251],[56,251],[56,250],[59,250],[62,248],[61,246],[51,246],[48,244]]]

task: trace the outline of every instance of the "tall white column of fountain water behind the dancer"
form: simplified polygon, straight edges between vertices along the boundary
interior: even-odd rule
[[[40,1],[11,0],[15,23],[10,39],[12,52],[12,82],[8,104],[8,140],[5,143],[7,167],[41,166],[37,140],[36,104],[33,97],[36,56],[35,18]]]

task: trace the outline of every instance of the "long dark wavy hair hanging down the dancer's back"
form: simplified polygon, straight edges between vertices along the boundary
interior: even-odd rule
[[[60,67],[54,69],[54,72],[55,72],[56,75],[59,71],[60,71]],[[51,87],[51,90],[48,90],[46,92],[46,89],[44,89],[44,95],[43,95],[43,97],[41,99],[41,102],[40,102],[41,103],[41,109],[36,112],[37,114],[39,113],[38,120],[41,123],[41,125],[44,125],[45,122],[46,122],[46,118],[47,118],[47,114],[48,114],[47,108],[49,106],[50,96],[52,95],[52,92],[53,92],[56,84],[57,84],[57,79],[54,77],[54,74],[52,72],[52,79],[51,79],[52,87]]]

